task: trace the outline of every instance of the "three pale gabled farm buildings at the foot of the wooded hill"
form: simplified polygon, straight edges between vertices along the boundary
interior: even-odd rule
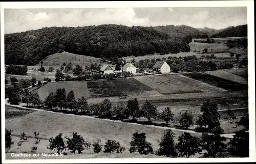
[[[105,64],[100,68],[101,74],[111,74],[111,73],[121,73],[123,71],[130,72],[131,74],[136,74],[138,68],[136,68],[132,63],[126,63],[121,70],[115,70],[115,68],[110,67],[109,65]],[[160,73],[169,73],[170,66],[165,61],[157,61],[153,66],[153,70],[160,72]]]

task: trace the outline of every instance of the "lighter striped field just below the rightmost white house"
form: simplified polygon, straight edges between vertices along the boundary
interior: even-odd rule
[[[141,83],[157,90],[161,94],[223,92],[221,88],[201,83],[180,74],[134,77]]]

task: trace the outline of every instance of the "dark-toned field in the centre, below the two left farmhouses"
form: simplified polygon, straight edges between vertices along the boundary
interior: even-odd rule
[[[148,97],[161,95],[154,89],[140,83],[135,78],[118,78],[113,80],[88,81],[91,98],[96,97]]]

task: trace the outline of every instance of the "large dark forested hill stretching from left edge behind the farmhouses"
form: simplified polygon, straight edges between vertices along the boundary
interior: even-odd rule
[[[183,38],[200,35],[190,34],[193,28],[186,29],[187,26],[180,26],[171,35],[153,27],[109,24],[77,28],[52,27],[6,34],[5,64],[35,65],[59,49],[106,59],[143,56],[155,52],[190,51]]]

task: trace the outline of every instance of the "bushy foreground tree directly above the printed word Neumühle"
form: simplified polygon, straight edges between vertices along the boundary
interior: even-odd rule
[[[49,146],[47,146],[47,149],[50,149],[51,151],[56,149],[58,154],[60,153],[60,151],[65,149],[65,143],[62,138],[62,133],[56,135],[55,138],[51,137],[49,139]]]

